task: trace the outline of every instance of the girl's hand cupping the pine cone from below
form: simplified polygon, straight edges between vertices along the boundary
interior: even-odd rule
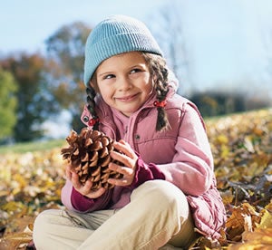
[[[68,178],[72,182],[74,189],[77,190],[79,193],[81,193],[85,197],[89,197],[89,198],[101,197],[102,194],[106,191],[104,187],[101,187],[93,191],[91,189],[92,181],[90,179],[87,180],[85,184],[83,185],[79,180],[78,174],[73,171],[73,168],[71,165],[68,165],[65,168],[65,174],[66,174],[66,178]]]

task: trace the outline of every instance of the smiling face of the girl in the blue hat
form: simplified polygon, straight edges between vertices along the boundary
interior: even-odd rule
[[[96,70],[102,99],[112,108],[131,116],[151,96],[151,72],[141,53],[121,53],[103,61]],[[92,83],[91,83],[92,84]],[[97,87],[97,88],[96,88]]]

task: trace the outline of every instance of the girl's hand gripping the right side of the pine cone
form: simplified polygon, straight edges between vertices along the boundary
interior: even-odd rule
[[[130,144],[122,139],[119,142],[114,142],[113,146],[119,152],[112,151],[111,157],[112,159],[116,159],[121,162],[123,166],[111,162],[109,164],[109,168],[121,173],[123,177],[109,178],[108,182],[116,186],[129,186],[131,185],[135,176],[135,168],[138,156],[135,154],[133,149],[131,149]]]

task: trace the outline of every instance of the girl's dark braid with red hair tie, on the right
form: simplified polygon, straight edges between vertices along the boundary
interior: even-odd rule
[[[157,131],[169,130],[170,123],[167,118],[167,113],[164,109],[166,105],[166,96],[169,91],[168,87],[168,70],[165,60],[160,56],[152,53],[143,53],[143,57],[150,65],[151,75],[155,81],[155,91],[157,100],[154,106],[157,107],[158,118],[156,124]]]

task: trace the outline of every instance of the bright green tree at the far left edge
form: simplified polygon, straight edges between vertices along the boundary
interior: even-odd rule
[[[0,67],[0,141],[11,137],[16,123],[17,85],[13,75]]]

